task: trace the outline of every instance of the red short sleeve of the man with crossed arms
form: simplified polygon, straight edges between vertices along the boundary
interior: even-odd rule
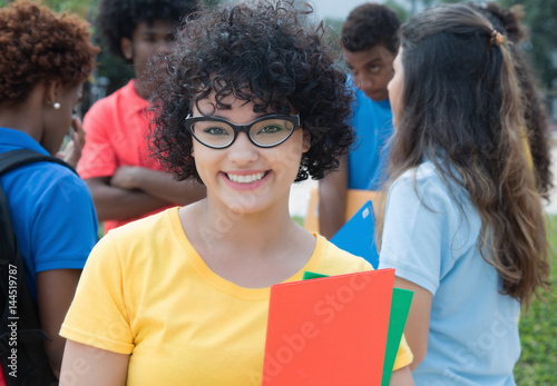
[[[107,128],[110,120],[106,102],[100,100],[84,117],[85,146],[77,166],[84,179],[111,176],[118,166]]]

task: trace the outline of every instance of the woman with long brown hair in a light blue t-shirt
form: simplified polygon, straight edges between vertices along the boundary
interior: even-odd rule
[[[549,285],[509,42],[467,6],[409,19],[389,85],[395,133],[380,268],[414,291],[418,385],[515,385],[518,318]]]

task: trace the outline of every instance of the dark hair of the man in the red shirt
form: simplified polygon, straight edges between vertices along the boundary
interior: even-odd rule
[[[197,0],[100,0],[99,13],[95,19],[97,36],[108,51],[126,59],[120,49],[120,39],[131,39],[137,24],[155,20],[176,23],[197,8]]]

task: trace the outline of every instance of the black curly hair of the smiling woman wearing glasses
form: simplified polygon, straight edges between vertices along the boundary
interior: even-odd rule
[[[194,103],[214,92],[254,102],[254,112],[300,113],[311,135],[296,181],[323,178],[339,167],[353,141],[348,125],[352,93],[346,76],[323,40],[311,7],[291,1],[245,3],[203,10],[188,20],[168,57],[169,80],[155,96],[154,150],[177,179],[199,180],[192,135],[184,119]]]

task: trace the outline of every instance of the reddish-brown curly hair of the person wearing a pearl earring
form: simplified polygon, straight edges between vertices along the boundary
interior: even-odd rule
[[[0,106],[23,102],[41,81],[84,82],[98,49],[89,24],[75,14],[18,0],[0,9]]]

